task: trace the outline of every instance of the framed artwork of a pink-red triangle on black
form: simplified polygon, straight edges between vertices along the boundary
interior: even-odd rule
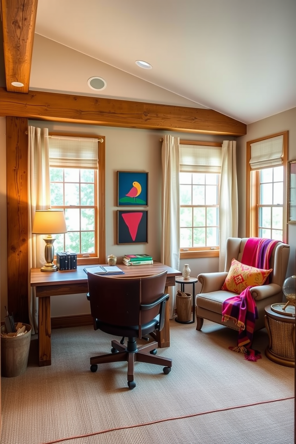
[[[148,210],[117,210],[117,245],[148,243]]]

